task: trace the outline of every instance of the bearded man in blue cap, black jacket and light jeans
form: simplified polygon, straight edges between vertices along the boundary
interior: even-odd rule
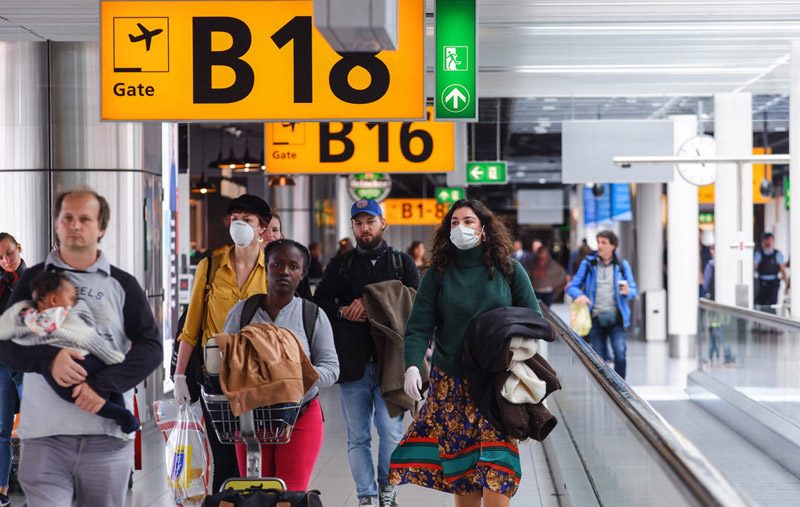
[[[389,484],[389,458],[403,436],[403,414],[391,417],[381,396],[375,344],[364,307],[364,286],[401,280],[414,289],[419,272],[408,254],[383,239],[386,220],[373,199],[361,199],[350,208],[356,248],[331,259],[314,295],[333,325],[339,356],[339,388],[347,424],[347,455],[356,483],[358,505],[397,505],[395,486]],[[372,420],[380,439],[378,480],[372,456]]]

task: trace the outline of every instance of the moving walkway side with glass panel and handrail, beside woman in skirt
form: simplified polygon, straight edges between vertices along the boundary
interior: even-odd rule
[[[558,333],[547,345],[563,385],[551,396],[562,423],[556,431],[575,446],[592,489],[587,496],[598,505],[753,505],[582,338],[543,311]]]

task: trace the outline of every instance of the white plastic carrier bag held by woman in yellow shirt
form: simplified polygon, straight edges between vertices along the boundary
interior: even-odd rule
[[[167,436],[167,486],[176,505],[200,505],[208,494],[209,460],[203,425],[188,405],[156,402],[156,420]]]

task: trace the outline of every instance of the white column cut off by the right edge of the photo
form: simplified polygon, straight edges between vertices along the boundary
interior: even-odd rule
[[[791,163],[789,164],[789,194],[795,196],[789,208],[789,224],[792,230],[800,227],[800,205],[797,196],[800,196],[800,41],[792,41],[792,74],[791,74],[791,97],[794,100],[789,104],[789,153]],[[792,234],[789,252],[784,252],[787,257],[789,253],[800,252],[800,233]],[[794,264],[798,261],[795,260]],[[793,265],[794,265],[793,264]],[[794,271],[794,268],[792,269]],[[800,268],[798,268],[800,273]],[[790,278],[791,288],[789,295],[794,304],[792,305],[792,318],[800,320],[800,279]]]

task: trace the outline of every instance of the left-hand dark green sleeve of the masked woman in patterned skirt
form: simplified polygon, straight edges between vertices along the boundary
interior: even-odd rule
[[[530,282],[528,282],[530,285]],[[431,267],[422,275],[419,282],[411,314],[406,323],[406,332],[403,335],[403,359],[405,367],[416,366],[422,370],[425,360],[425,351],[436,328],[436,300],[438,297],[436,286],[436,268]]]

